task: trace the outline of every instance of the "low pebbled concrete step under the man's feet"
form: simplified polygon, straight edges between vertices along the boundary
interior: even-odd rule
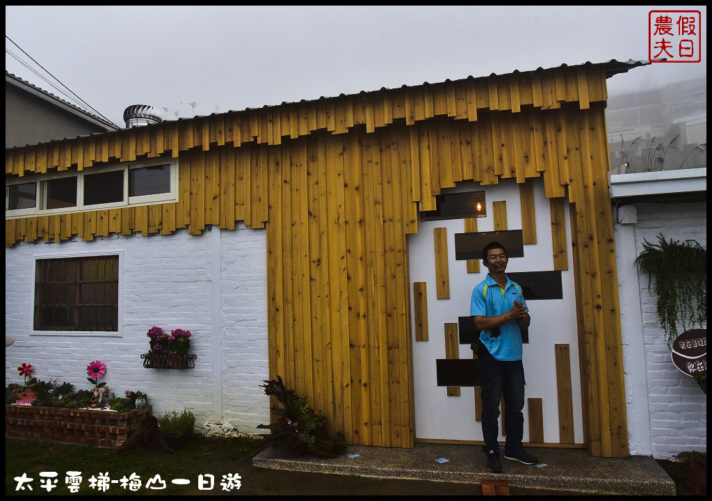
[[[390,480],[429,480],[424,485],[449,482],[476,494],[482,479],[505,479],[524,490],[551,490],[622,495],[675,495],[675,484],[652,458],[592,458],[582,449],[530,449],[545,466],[525,466],[503,459],[501,474],[488,472],[478,445],[417,444],[413,449],[352,445],[339,458],[296,458],[283,450],[267,449],[253,458],[257,468],[318,472],[325,477],[350,475]],[[348,454],[358,454],[350,458]],[[436,459],[446,458],[446,463]],[[335,480],[337,481],[337,480]],[[441,484],[442,485],[442,484]],[[449,491],[449,490],[448,490]],[[365,493],[365,492],[361,492]],[[445,493],[442,492],[441,493]],[[514,494],[515,492],[513,492]],[[522,492],[525,493],[525,492]]]

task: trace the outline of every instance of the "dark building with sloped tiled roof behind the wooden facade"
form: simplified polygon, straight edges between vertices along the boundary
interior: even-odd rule
[[[110,130],[117,128],[5,71],[5,148]]]

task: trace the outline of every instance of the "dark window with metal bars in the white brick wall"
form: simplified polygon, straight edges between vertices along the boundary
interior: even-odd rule
[[[118,331],[119,257],[37,259],[35,331]]]

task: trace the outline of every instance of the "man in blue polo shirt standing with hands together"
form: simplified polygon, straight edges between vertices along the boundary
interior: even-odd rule
[[[507,251],[499,242],[492,242],[482,250],[482,262],[488,269],[487,277],[472,291],[470,315],[480,331],[476,339],[480,386],[482,388],[482,450],[487,468],[501,472],[497,437],[499,403],[504,395],[507,430],[504,457],[525,465],[535,465],[536,458],[525,453],[522,446],[524,416],[524,367],[522,365],[522,337],[519,326],[528,327],[531,321],[528,308],[518,284],[504,274]]]

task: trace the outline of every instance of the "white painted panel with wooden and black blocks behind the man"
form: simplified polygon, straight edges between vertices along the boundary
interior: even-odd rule
[[[544,197],[543,180],[533,180],[537,225],[537,243],[524,246],[523,258],[511,258],[508,272],[542,272],[554,269],[549,201]],[[486,192],[487,217],[478,218],[477,231],[494,229],[493,202],[506,200],[508,229],[521,229],[519,187],[515,180],[501,180],[498,185],[480,186],[459,183],[447,192]],[[565,207],[568,270],[562,272],[564,299],[530,300],[531,326],[529,344],[523,346],[525,399],[542,398],[544,440],[559,442],[559,414],[556,386],[555,344],[569,344],[574,439],[583,443],[581,383],[579,371],[575,291],[571,253],[571,230]],[[436,299],[434,228],[447,228],[450,299]],[[444,326],[470,314],[472,289],[485,279],[487,269],[480,263],[478,274],[468,274],[465,261],[455,260],[455,233],[464,232],[463,219],[418,222],[418,233],[408,235],[412,325],[415,325],[413,282],[426,282],[429,341],[415,341],[412,332],[415,430],[417,438],[440,440],[482,440],[481,423],[474,418],[473,388],[461,388],[461,396],[447,396],[446,388],[437,386],[436,358],[445,358]],[[472,358],[469,346],[459,345],[459,358]],[[524,441],[529,440],[528,404],[524,409]],[[501,420],[501,418],[500,418]],[[501,427],[500,427],[501,429]],[[501,435],[499,440],[504,440]]]

